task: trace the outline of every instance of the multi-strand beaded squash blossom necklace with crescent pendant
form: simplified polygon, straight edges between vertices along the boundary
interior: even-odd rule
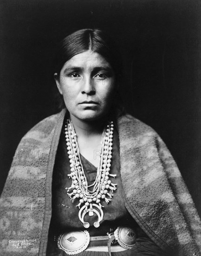
[[[70,188],[65,189],[67,189],[67,195],[71,198],[72,202],[79,199],[79,203],[76,205],[80,209],[78,216],[86,229],[90,227],[90,224],[89,222],[84,222],[84,216],[86,214],[94,216],[95,213],[97,221],[93,225],[95,228],[98,228],[104,217],[102,209],[104,206],[101,205],[101,201],[109,203],[113,196],[113,191],[117,189],[117,184],[113,184],[110,181],[110,176],[114,178],[117,176],[116,174],[110,174],[113,130],[113,121],[110,121],[102,134],[97,176],[95,182],[89,186],[80,159],[77,135],[71,120],[66,120],[65,138],[71,167],[71,173],[68,176],[72,179],[72,184]],[[93,189],[89,190],[90,187],[93,187]]]

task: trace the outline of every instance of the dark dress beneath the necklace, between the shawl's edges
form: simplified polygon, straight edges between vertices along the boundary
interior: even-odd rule
[[[110,174],[117,174],[117,177],[111,177],[110,180],[117,184],[117,190],[114,192],[114,196],[109,204],[101,201],[101,204],[104,205],[104,218],[100,222],[100,227],[95,228],[93,226],[93,223],[97,221],[96,215],[91,217],[86,215],[84,220],[90,223],[90,228],[84,229],[83,223],[78,218],[79,209],[76,207],[78,200],[72,203],[69,196],[66,194],[65,188],[71,186],[71,179],[68,177],[68,174],[71,173],[71,171],[63,126],[53,170],[52,219],[49,229],[46,256],[66,256],[66,253],[63,250],[57,248],[57,242],[54,241],[54,236],[57,237],[59,234],[75,229],[88,230],[90,236],[106,236],[107,232],[113,232],[120,225],[132,227],[135,230],[137,234],[136,245],[132,250],[125,250],[116,253],[112,252],[112,256],[165,256],[165,253],[155,243],[153,243],[137,225],[136,221],[130,216],[124,206],[122,196],[123,188],[120,177],[120,152],[117,128],[114,129],[113,136],[113,155]],[[83,155],[80,156],[87,182],[91,185],[95,181],[97,168],[85,159]],[[77,255],[108,256],[109,254],[107,252],[83,251]]]

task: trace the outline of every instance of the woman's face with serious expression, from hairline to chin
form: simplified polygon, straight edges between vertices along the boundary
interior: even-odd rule
[[[114,71],[100,54],[88,50],[66,61],[55,74],[60,94],[71,115],[84,121],[101,118],[110,109],[115,87]]]

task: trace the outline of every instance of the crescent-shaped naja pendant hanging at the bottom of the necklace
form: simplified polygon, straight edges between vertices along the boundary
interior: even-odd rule
[[[95,228],[98,228],[100,226],[100,222],[103,220],[104,217],[104,212],[102,210],[102,205],[99,203],[99,205],[97,205],[96,203],[90,203],[90,206],[88,208],[88,206],[83,206],[80,210],[79,210],[79,219],[80,221],[83,223],[84,228],[88,229],[90,227],[89,222],[84,222],[84,216],[88,213],[89,216],[94,216],[94,213],[97,215],[98,220],[96,222],[93,223]],[[97,208],[97,209],[94,209]]]

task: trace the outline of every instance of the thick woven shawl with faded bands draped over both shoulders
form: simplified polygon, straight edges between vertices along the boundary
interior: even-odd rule
[[[2,256],[45,256],[52,214],[52,171],[65,109],[20,141],[1,195]],[[201,250],[201,221],[182,176],[156,131],[131,115],[117,120],[124,202],[169,255]]]

